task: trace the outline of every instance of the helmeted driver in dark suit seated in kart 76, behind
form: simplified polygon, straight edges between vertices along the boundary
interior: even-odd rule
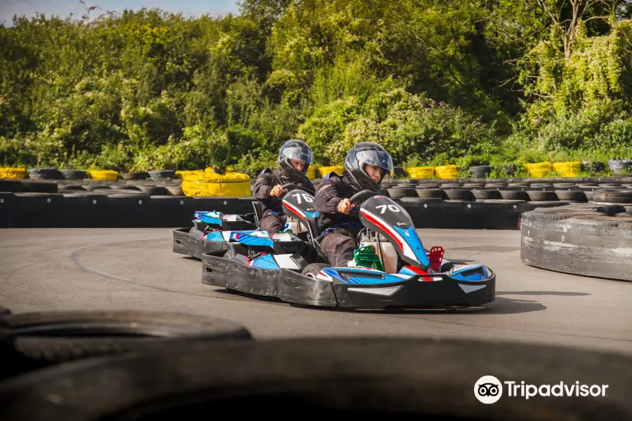
[[[312,182],[305,176],[312,163],[312,149],[303,140],[287,140],[279,150],[279,168],[265,168],[252,186],[252,195],[261,202],[263,217],[259,227],[269,234],[282,231],[286,216],[282,210],[283,185],[294,184],[315,194]]]

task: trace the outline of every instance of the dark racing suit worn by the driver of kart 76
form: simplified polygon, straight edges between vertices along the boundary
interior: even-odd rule
[[[275,185],[289,183],[308,189],[312,194],[315,194],[314,185],[309,178],[304,177],[300,181],[294,180],[289,178],[282,168],[277,168],[275,171],[265,168],[252,186],[252,195],[261,202],[263,208],[263,218],[261,218],[259,227],[269,234],[277,234],[282,231],[287,219],[282,209],[283,194],[279,197],[270,196],[270,190]]]

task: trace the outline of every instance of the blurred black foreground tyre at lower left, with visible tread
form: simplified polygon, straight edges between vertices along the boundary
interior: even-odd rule
[[[145,311],[61,311],[0,318],[1,377],[59,363],[175,344],[252,339],[213,317]]]

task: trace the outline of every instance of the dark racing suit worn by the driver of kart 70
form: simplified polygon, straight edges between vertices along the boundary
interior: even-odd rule
[[[331,173],[322,180],[316,192],[316,208],[320,213],[318,229],[320,250],[329,260],[332,267],[347,266],[353,260],[353,250],[357,248],[356,237],[362,229],[357,213],[344,214],[338,212],[338,203],[343,199],[360,192],[352,182],[348,173],[338,175]]]

